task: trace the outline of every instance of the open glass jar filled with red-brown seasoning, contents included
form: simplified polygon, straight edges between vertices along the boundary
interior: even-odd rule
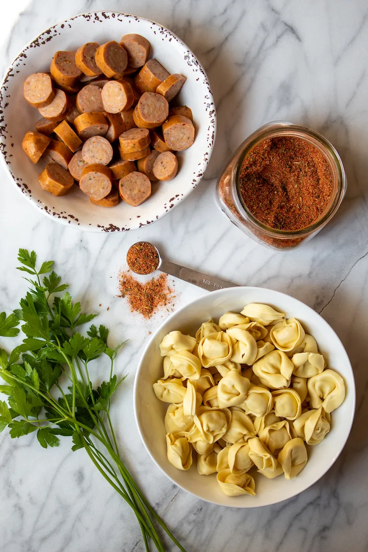
[[[238,147],[217,183],[221,210],[253,240],[286,251],[310,240],[346,192],[342,160],[318,132],[274,121]]]

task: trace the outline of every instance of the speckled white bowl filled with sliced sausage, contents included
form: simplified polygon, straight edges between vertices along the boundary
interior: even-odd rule
[[[47,216],[89,231],[135,230],[199,184],[216,134],[206,73],[150,20],[91,12],[39,35],[0,97],[4,166]]]

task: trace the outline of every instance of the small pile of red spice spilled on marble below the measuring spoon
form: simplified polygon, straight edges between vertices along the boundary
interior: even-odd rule
[[[174,290],[168,285],[167,274],[160,274],[145,284],[127,272],[120,273],[119,278],[121,297],[127,298],[131,312],[139,312],[146,319],[150,319],[159,307],[170,305],[175,297]]]

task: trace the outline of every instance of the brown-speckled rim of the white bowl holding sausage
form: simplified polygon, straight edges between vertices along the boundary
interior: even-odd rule
[[[203,79],[203,83],[207,87],[207,93],[205,95],[205,98],[207,100],[207,105],[209,106],[209,109],[207,111],[209,117],[208,117],[208,128],[207,128],[207,139],[206,139],[206,150],[204,152],[203,160],[198,166],[196,166],[195,171],[193,172],[193,177],[191,179],[190,184],[188,185],[188,190],[186,190],[184,193],[180,193],[175,195],[174,197],[170,198],[169,201],[164,203],[163,208],[161,209],[160,213],[154,217],[152,220],[147,220],[146,222],[140,222],[138,226],[134,228],[129,228],[126,226],[116,226],[114,224],[110,224],[109,226],[105,226],[103,224],[98,224],[97,222],[93,222],[92,224],[87,223],[81,223],[79,222],[76,217],[73,215],[67,214],[66,211],[61,211],[60,213],[57,213],[54,208],[50,208],[49,206],[45,205],[41,201],[36,201],[31,197],[30,189],[28,185],[23,182],[21,178],[15,177],[13,174],[10,165],[11,163],[7,161],[8,151],[6,149],[7,147],[7,134],[6,134],[6,126],[7,124],[4,123],[4,113],[6,111],[6,108],[8,107],[8,102],[6,98],[6,84],[8,83],[9,79],[14,76],[15,72],[17,71],[17,66],[20,65],[20,63],[23,63],[24,57],[25,57],[25,51],[28,50],[31,47],[35,47],[38,45],[38,41],[44,41],[42,44],[45,44],[46,42],[51,40],[51,33],[52,30],[56,30],[58,26],[63,26],[71,21],[74,21],[78,18],[90,18],[94,17],[94,20],[99,20],[98,17],[101,14],[104,19],[109,19],[111,16],[112,18],[119,18],[119,17],[130,17],[134,18],[137,22],[140,21],[146,21],[153,26],[157,26],[159,33],[166,33],[170,36],[170,40],[173,39],[177,41],[179,46],[181,46],[185,50],[185,56],[184,59],[188,63],[189,67],[195,66],[196,70],[200,71]],[[63,27],[62,27],[63,28]],[[92,10],[90,12],[83,12],[78,15],[75,15],[74,17],[65,19],[63,21],[60,21],[58,23],[55,23],[55,25],[52,25],[48,29],[42,31],[39,35],[35,36],[34,39],[30,40],[28,44],[26,44],[22,51],[19,52],[19,54],[15,57],[14,61],[10,63],[8,70],[6,71],[4,78],[2,79],[1,85],[0,85],[0,114],[1,114],[1,125],[0,125],[0,159],[2,166],[4,167],[7,174],[10,176],[11,181],[15,185],[15,188],[18,189],[20,193],[22,193],[23,197],[28,199],[31,203],[31,205],[35,206],[36,209],[40,210],[41,213],[46,215],[52,220],[56,220],[57,222],[61,222],[61,224],[65,226],[74,226],[81,230],[85,230],[88,232],[124,232],[129,230],[140,230],[144,226],[148,226],[152,224],[153,222],[157,222],[159,219],[162,219],[163,216],[165,216],[172,208],[177,206],[180,201],[188,197],[188,195],[193,192],[193,190],[198,186],[200,183],[202,177],[204,176],[205,170],[207,168],[207,165],[210,161],[210,157],[212,154],[212,150],[215,144],[215,138],[216,138],[216,108],[215,108],[215,102],[214,97],[211,92],[211,86],[209,79],[207,78],[206,72],[204,68],[202,67],[201,63],[197,59],[197,57],[194,55],[194,53],[190,50],[190,48],[179,39],[177,35],[175,35],[172,31],[164,27],[163,25],[156,23],[152,21],[151,19],[147,19],[145,17],[138,17],[137,15],[128,14],[124,12],[115,12],[113,10]],[[50,200],[51,201],[51,200]],[[138,217],[139,218],[139,217]]]

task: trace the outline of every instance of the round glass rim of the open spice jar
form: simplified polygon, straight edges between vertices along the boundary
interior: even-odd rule
[[[247,208],[247,205],[242,197],[239,188],[239,173],[244,158],[246,158],[248,153],[257,144],[260,144],[260,142],[278,136],[294,136],[302,140],[306,140],[310,142],[310,144],[312,144],[313,146],[317,147],[330,166],[332,178],[334,179],[337,188],[335,192],[335,197],[326,212],[315,222],[312,222],[312,224],[299,230],[280,230],[263,224],[263,222],[258,220]],[[301,237],[316,232],[324,225],[326,225],[330,219],[332,219],[340,204],[342,203],[346,192],[346,174],[339,153],[331,144],[331,142],[327,140],[326,137],[324,137],[322,134],[319,134],[319,132],[315,130],[309,129],[306,126],[296,125],[294,123],[290,123],[289,121],[273,121],[261,126],[258,130],[253,132],[253,134],[248,136],[246,141],[243,142],[242,146],[243,151],[237,161],[235,175],[236,193],[233,194],[233,200],[239,213],[242,214],[242,216],[246,217],[251,224],[257,227],[257,229],[262,230],[262,232],[267,236],[277,236],[279,239],[282,240],[287,238]]]

